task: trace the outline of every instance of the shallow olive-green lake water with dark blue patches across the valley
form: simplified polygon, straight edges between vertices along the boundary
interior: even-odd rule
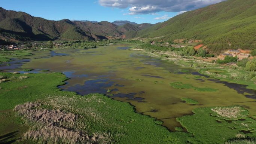
[[[70,79],[60,86],[64,91],[80,95],[103,93],[116,100],[129,102],[138,113],[158,120],[174,131],[176,117],[192,114],[193,108],[241,105],[256,115],[255,92],[238,85],[213,79],[190,68],[129,50],[129,45],[95,49],[34,51],[22,69],[63,72]],[[20,68],[20,69],[21,69]],[[172,82],[192,84],[198,88],[214,88],[216,92],[175,89]],[[107,92],[110,90],[110,92]],[[192,98],[199,105],[189,105],[180,98]]]

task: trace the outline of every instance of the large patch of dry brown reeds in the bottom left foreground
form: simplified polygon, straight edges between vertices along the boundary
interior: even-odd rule
[[[25,139],[45,144],[107,144],[111,142],[106,133],[88,135],[76,128],[76,114],[61,110],[46,110],[39,102],[27,102],[13,109],[23,116],[32,128],[24,134]]]

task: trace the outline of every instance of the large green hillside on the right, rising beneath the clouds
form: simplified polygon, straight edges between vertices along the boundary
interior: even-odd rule
[[[137,37],[203,40],[214,52],[255,49],[256,1],[227,0],[185,12],[138,32]]]

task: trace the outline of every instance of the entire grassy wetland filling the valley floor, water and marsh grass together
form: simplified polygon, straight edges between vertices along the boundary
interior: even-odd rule
[[[255,91],[133,46],[5,53],[0,142],[255,143]]]

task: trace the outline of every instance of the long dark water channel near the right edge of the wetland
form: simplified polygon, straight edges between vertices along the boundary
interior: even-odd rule
[[[248,85],[241,85],[241,84],[237,84],[237,83],[229,83],[229,82],[225,82],[225,81],[221,81],[221,80],[217,80],[217,79],[209,79],[209,80],[212,81],[212,82],[224,84],[225,86],[228,86],[229,88],[234,89],[235,91],[237,91],[238,94],[244,94],[244,93],[252,94],[252,95],[247,95],[247,98],[253,98],[254,99],[256,97],[255,90],[246,88]]]

